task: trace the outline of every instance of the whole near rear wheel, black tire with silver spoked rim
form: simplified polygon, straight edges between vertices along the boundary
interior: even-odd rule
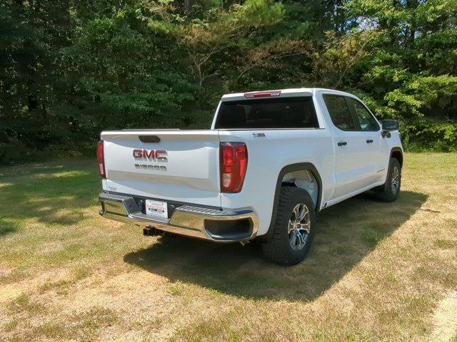
[[[273,234],[262,245],[266,259],[283,265],[302,261],[313,241],[315,217],[308,192],[298,187],[282,187]]]

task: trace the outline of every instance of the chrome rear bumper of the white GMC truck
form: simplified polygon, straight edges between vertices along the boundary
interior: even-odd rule
[[[155,227],[164,232],[209,239],[215,242],[238,242],[253,239],[258,229],[256,214],[249,210],[227,212],[218,209],[181,205],[169,219],[151,217],[141,212],[133,197],[99,195],[100,214],[107,219]]]

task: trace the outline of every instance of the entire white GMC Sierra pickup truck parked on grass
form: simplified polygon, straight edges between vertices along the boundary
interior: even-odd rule
[[[349,93],[298,88],[224,95],[210,130],[104,131],[100,214],[214,242],[261,243],[303,260],[316,214],[367,190],[394,201],[398,123]]]

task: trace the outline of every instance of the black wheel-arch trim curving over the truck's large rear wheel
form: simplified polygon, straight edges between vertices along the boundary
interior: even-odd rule
[[[318,195],[317,195],[317,201],[316,201],[316,214],[320,211],[321,198],[322,198],[322,180],[321,180],[321,175],[319,175],[319,172],[316,169],[316,167],[313,164],[311,164],[311,162],[300,162],[298,164],[286,165],[279,172],[278,180],[276,181],[276,190],[274,192],[274,199],[273,199],[273,212],[271,214],[271,221],[270,221],[270,226],[268,227],[268,232],[266,232],[266,234],[262,235],[261,238],[269,239],[271,237],[271,234],[273,234],[273,226],[274,226],[274,223],[276,222],[276,214],[278,213],[279,194],[281,193],[281,186],[282,186],[282,180],[283,180],[284,175],[286,175],[286,173],[288,173],[288,172],[294,172],[294,171],[300,171],[300,170],[310,170],[313,173],[313,176],[317,180]]]

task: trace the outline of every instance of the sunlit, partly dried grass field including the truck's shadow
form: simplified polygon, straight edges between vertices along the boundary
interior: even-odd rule
[[[99,217],[94,161],[2,168],[0,341],[457,341],[457,154],[405,160],[287,268]]]

